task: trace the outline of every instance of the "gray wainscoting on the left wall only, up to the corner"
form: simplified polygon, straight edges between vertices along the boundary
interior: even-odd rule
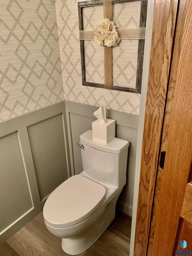
[[[0,242],[69,177],[64,101],[0,123]]]

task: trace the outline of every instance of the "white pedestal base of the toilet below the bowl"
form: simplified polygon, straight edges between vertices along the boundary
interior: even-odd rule
[[[117,198],[114,199],[117,200]],[[86,251],[97,241],[115,218],[116,202],[113,203],[113,200],[107,204],[101,218],[84,233],[73,238],[62,238],[61,246],[64,252],[70,255],[77,255]]]

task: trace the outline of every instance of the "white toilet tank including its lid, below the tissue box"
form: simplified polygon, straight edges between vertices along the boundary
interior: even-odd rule
[[[113,138],[105,144],[92,140],[92,131],[80,135],[83,170],[107,182],[120,183],[126,176],[129,142]]]

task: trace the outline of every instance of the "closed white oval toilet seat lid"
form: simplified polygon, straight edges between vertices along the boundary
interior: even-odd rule
[[[105,188],[74,175],[56,188],[45,202],[43,215],[52,227],[69,227],[91,215],[105,200]]]

